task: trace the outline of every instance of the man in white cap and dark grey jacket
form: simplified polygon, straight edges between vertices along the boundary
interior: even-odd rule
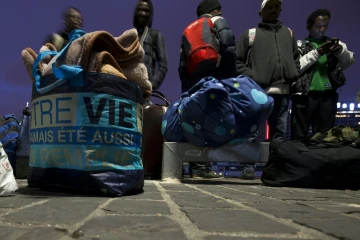
[[[298,80],[300,63],[296,38],[278,20],[282,0],[264,0],[262,22],[243,33],[237,44],[237,74],[257,82],[274,98],[268,119],[270,140],[285,138],[288,122],[289,86]]]

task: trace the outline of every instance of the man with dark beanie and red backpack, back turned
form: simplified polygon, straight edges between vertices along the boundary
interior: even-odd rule
[[[218,80],[235,77],[236,75],[236,52],[235,52],[235,37],[226,23],[225,19],[221,16],[221,4],[218,0],[202,0],[197,7],[197,16],[198,19],[209,18],[214,25],[215,33],[211,34],[209,25],[209,31],[204,30],[204,25],[194,27],[199,21],[194,21],[191,23],[184,31],[181,41],[181,53],[180,53],[180,65],[179,65],[179,75],[181,79],[181,90],[182,92],[188,91],[193,85],[200,81],[204,77],[212,76]],[[190,30],[193,28],[193,30]],[[201,31],[198,29],[201,28]],[[188,35],[185,35],[185,32],[190,30]],[[199,34],[200,33],[200,34]],[[201,35],[202,34],[202,35]],[[207,53],[200,52],[198,56],[209,56],[212,55],[218,56],[217,62],[210,61],[210,65],[202,65],[200,71],[197,71],[196,74],[191,74],[189,72],[189,64],[191,56],[190,48],[196,48],[196,46],[190,46],[192,43],[198,43],[204,41],[204,39],[212,39],[214,44],[212,47],[207,48]],[[215,46],[216,45],[216,46]],[[218,48],[215,51],[214,49]],[[209,54],[208,54],[209,53]],[[208,61],[207,59],[205,61]],[[202,63],[203,64],[203,63]],[[213,65],[217,67],[213,67]],[[197,66],[195,66],[197,67]],[[189,163],[189,173],[190,177],[204,177],[204,178],[219,178],[221,176],[217,175],[212,171],[212,166],[210,162],[201,163],[201,162],[191,162]]]

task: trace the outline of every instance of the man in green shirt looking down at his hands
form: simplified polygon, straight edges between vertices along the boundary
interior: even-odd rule
[[[307,137],[310,125],[325,133],[334,123],[339,95],[336,90],[346,83],[343,71],[355,62],[354,53],[337,38],[325,36],[331,13],[327,9],[312,12],[306,23],[309,36],[299,40],[300,78],[293,85],[292,139]]]

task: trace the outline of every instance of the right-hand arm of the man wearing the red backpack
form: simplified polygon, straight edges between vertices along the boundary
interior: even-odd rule
[[[221,62],[224,72],[224,77],[236,76],[236,43],[233,31],[224,18],[218,17],[214,22],[214,27],[217,32]]]

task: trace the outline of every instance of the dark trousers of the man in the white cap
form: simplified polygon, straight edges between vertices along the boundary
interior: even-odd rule
[[[285,138],[288,115],[289,115],[289,95],[288,94],[269,94],[274,99],[274,108],[269,116],[269,138]]]

